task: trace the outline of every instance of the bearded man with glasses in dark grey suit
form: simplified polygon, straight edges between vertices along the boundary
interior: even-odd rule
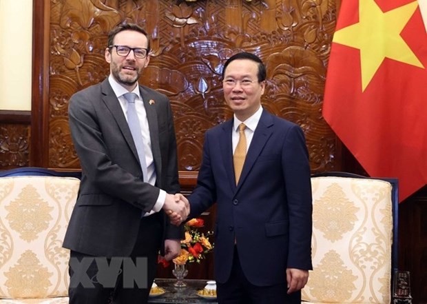
[[[147,303],[158,251],[167,260],[180,252],[183,230],[176,225],[189,207],[174,197],[179,183],[171,106],[165,95],[138,85],[149,50],[145,30],[117,26],[105,49],[110,76],[70,99],[82,168],[63,243],[71,250],[70,303]]]

